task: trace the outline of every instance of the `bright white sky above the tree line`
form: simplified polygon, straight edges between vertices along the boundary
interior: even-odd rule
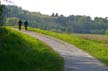
[[[11,0],[14,5],[29,11],[51,15],[53,12],[91,17],[108,16],[108,0]]]

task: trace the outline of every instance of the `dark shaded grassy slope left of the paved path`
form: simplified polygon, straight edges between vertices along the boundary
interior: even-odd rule
[[[62,71],[63,59],[28,35],[0,28],[0,71]]]

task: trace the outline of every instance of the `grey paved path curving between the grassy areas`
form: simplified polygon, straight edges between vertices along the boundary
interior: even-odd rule
[[[42,34],[22,31],[51,46],[64,58],[64,71],[108,71],[98,60],[64,41]]]

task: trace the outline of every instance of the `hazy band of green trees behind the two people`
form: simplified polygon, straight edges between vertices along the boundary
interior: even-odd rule
[[[63,15],[52,14],[51,16],[43,15],[39,12],[29,12],[17,6],[7,6],[9,9],[7,18],[7,25],[13,24],[16,19],[28,20],[29,26],[38,27],[41,29],[68,32],[68,33],[94,33],[94,34],[108,34],[108,21],[106,18],[95,17],[94,20],[89,16],[70,15],[65,17]],[[16,19],[14,18],[16,17]],[[12,23],[11,23],[11,22]]]

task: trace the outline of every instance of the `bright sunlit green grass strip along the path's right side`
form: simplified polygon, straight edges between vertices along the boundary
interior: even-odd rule
[[[95,58],[99,59],[106,65],[108,65],[108,43],[103,42],[104,40],[97,40],[93,38],[87,38],[87,36],[82,38],[80,35],[70,35],[70,34],[60,34],[40,29],[33,29],[29,28],[31,31],[43,33],[46,35],[50,35],[56,38],[59,38],[61,40],[67,41],[71,44],[74,44],[75,46],[79,47],[80,49],[83,49],[84,51],[88,52]],[[97,37],[97,36],[96,36]],[[96,38],[94,37],[94,38]]]

